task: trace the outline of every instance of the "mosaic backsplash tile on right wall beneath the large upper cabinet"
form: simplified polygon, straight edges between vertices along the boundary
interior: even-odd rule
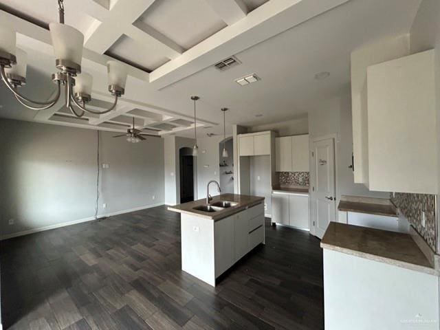
[[[391,193],[391,201],[400,209],[411,225],[435,251],[435,195]],[[421,225],[421,211],[425,211],[426,225]]]

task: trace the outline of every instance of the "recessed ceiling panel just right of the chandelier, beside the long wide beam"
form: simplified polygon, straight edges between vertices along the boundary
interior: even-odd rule
[[[123,34],[120,36],[110,49],[106,52],[109,56],[114,56],[135,67],[151,72],[157,67],[169,61],[168,58],[157,54],[148,45],[140,45],[129,36]]]

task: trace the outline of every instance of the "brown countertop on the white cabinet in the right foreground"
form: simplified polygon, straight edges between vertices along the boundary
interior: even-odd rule
[[[321,248],[439,275],[410,234],[331,222]]]

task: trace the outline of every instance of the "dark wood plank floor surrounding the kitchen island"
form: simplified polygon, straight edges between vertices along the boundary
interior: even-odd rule
[[[165,207],[1,242],[5,329],[323,329],[322,252],[266,223],[214,289],[181,271]]]

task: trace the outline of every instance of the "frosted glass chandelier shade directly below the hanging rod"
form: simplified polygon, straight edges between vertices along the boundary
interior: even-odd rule
[[[83,58],[84,35],[70,25],[49,24],[54,54],[57,60],[72,61],[81,65]]]

